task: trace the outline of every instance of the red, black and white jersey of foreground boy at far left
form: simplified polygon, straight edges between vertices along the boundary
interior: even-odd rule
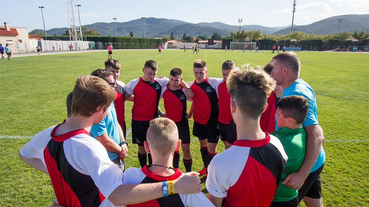
[[[86,130],[54,136],[58,126],[36,134],[21,148],[21,155],[41,159],[60,205],[113,207],[106,198],[123,184],[118,166]]]

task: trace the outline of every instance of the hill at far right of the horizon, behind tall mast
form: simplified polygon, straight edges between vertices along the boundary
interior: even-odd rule
[[[342,18],[340,32],[348,31],[354,32],[355,30],[361,31],[364,28],[368,28],[369,14],[347,14],[335,17],[329,17],[324,20],[320,20],[308,25],[296,26],[296,31],[313,33],[318,35],[336,34],[338,32],[338,18]],[[281,29],[274,32],[273,35],[290,33],[290,27]]]

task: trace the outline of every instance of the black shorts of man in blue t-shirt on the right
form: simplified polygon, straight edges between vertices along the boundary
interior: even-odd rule
[[[299,189],[299,203],[306,196],[311,199],[320,199],[322,197],[322,187],[320,182],[320,173],[324,164],[316,171],[309,173],[304,184]]]

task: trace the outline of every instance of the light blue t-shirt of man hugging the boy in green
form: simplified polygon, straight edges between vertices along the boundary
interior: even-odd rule
[[[307,113],[304,122],[302,123],[302,126],[305,127],[313,124],[319,124],[317,98],[315,97],[315,93],[311,88],[311,86],[307,84],[305,81],[303,81],[301,78],[299,78],[299,80],[295,81],[293,84],[291,84],[289,87],[283,90],[282,98],[291,95],[301,95],[307,99],[309,111]],[[279,128],[280,127],[278,127],[276,124],[276,130],[278,130]],[[323,147],[321,147],[317,161],[315,161],[313,168],[311,168],[310,172],[316,171],[324,164],[324,162],[325,162],[325,152]]]

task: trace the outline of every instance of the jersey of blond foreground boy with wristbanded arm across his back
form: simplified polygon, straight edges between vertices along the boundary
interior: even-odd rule
[[[184,174],[175,169],[175,173],[171,176],[160,176],[151,172],[148,166],[140,168],[128,168],[123,173],[123,184],[139,184],[139,183],[156,183],[167,180],[175,180],[183,176]],[[164,207],[164,206],[176,206],[176,207],[212,207],[214,206],[204,193],[194,194],[172,194],[167,197],[162,197],[155,200],[146,201],[144,203],[128,205],[127,207]]]

